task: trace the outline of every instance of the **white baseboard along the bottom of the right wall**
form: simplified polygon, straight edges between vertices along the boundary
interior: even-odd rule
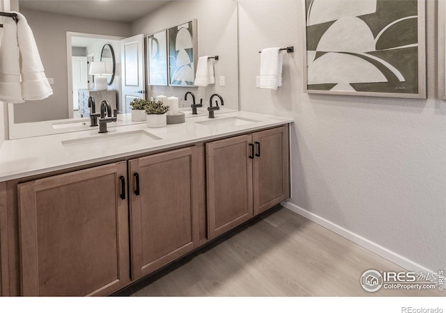
[[[420,264],[417,264],[411,261],[410,259],[407,259],[406,257],[399,255],[396,252],[384,248],[383,246],[380,246],[377,243],[370,241],[369,239],[366,239],[358,234],[355,234],[350,230],[346,230],[344,227],[341,227],[339,225],[330,222],[330,220],[326,220],[325,218],[321,218],[321,216],[317,216],[312,212],[302,209],[301,207],[298,207],[297,205],[291,202],[284,201],[281,204],[282,207],[285,207],[286,209],[289,209],[290,211],[293,211],[299,214],[300,216],[312,220],[314,223],[321,225],[322,227],[325,227],[328,230],[331,230],[332,232],[339,234],[340,236],[343,236],[344,238],[356,243],[359,246],[362,246],[362,248],[374,252],[376,255],[379,255],[380,257],[383,257],[384,259],[387,259],[390,262],[393,262],[394,264],[397,264],[398,266],[405,268],[407,271],[413,271],[415,273],[420,273],[420,272],[433,273],[433,271],[431,271],[430,269],[425,268],[424,266],[421,266]],[[380,270],[380,268],[374,268],[374,269]]]

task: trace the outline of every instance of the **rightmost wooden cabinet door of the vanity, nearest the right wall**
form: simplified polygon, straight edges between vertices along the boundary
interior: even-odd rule
[[[254,157],[254,214],[260,214],[289,197],[287,127],[252,134]]]

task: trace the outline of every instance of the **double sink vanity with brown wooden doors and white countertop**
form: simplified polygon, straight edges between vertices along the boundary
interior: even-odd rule
[[[0,147],[3,296],[113,294],[289,197],[289,118],[126,119]]]

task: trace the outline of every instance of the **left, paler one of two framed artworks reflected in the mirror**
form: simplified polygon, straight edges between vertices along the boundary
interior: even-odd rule
[[[147,36],[148,84],[167,86],[167,29]]]

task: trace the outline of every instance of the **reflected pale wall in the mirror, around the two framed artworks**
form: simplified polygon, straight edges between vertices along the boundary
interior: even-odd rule
[[[197,19],[198,56],[220,57],[220,60],[215,62],[215,85],[206,88],[147,86],[148,97],[162,94],[183,97],[187,91],[192,91],[197,102],[203,98],[203,106],[208,106],[210,95],[219,93],[224,98],[226,109],[238,110],[238,35],[235,1],[174,1],[133,22],[132,35],[143,33],[147,36],[190,19]],[[219,86],[220,76],[226,77],[224,87]],[[187,104],[191,103],[190,99],[187,99]]]

